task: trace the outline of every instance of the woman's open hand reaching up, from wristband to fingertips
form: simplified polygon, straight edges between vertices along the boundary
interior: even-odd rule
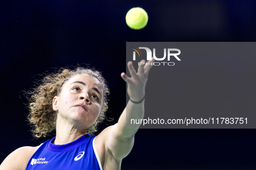
[[[126,76],[124,72],[121,73],[122,79],[127,83],[127,93],[132,101],[141,101],[145,97],[146,82],[148,80],[149,70],[152,67],[152,60],[149,60],[146,64],[145,60],[141,60],[145,64],[140,64],[138,67],[138,72],[133,67],[133,63],[129,61],[127,63],[128,70],[131,77]],[[152,65],[151,65],[152,64]]]

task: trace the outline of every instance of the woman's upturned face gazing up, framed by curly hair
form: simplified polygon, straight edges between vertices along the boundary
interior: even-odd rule
[[[53,109],[61,119],[88,129],[100,115],[104,91],[100,81],[88,74],[71,77],[53,99]]]

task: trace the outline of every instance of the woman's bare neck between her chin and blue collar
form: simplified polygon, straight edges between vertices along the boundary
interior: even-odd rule
[[[88,129],[79,129],[73,124],[68,122],[63,122],[57,119],[56,122],[56,138],[53,144],[64,145],[75,141],[83,135],[89,133]]]

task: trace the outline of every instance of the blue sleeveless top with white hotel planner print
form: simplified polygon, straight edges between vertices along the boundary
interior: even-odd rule
[[[54,137],[41,144],[26,170],[102,170],[94,139],[95,135],[87,134],[71,143],[54,145]]]

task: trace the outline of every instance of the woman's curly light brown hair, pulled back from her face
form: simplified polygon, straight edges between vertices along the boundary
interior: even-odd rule
[[[75,70],[61,68],[58,72],[45,74],[45,76],[37,82],[38,86],[36,88],[32,88],[32,90],[26,92],[26,94],[28,94],[26,98],[29,101],[28,120],[32,126],[34,137],[45,137],[56,128],[58,112],[52,109],[52,100],[61,92],[65,82],[78,74],[94,76],[103,85],[104,102],[100,117],[97,121],[97,126],[104,121],[105,113],[108,109],[107,95],[109,94],[109,88],[102,74],[97,70],[85,69],[83,67],[77,67]],[[90,135],[97,131],[97,126],[91,126],[89,128]]]

